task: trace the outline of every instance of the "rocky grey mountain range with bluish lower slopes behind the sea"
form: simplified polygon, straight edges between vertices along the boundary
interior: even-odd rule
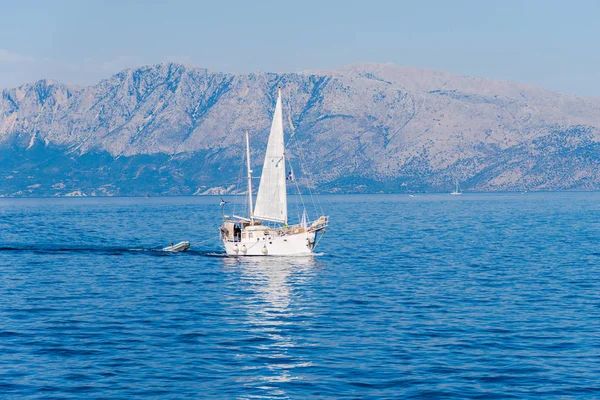
[[[600,99],[392,64],[224,74],[169,63],[89,87],[3,90],[0,195],[238,190],[243,133],[259,173],[277,87],[293,164],[304,158],[323,192],[445,191],[454,179],[473,191],[600,188]]]

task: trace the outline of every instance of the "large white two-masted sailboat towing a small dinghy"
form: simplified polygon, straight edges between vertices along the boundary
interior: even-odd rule
[[[306,209],[295,225],[289,225],[287,204],[286,154],[281,107],[281,89],[267,142],[256,205],[252,204],[252,169],[250,140],[246,131],[246,163],[248,170],[248,217],[223,213],[219,227],[225,252],[230,256],[306,256],[311,255],[319,238],[329,224],[329,217],[321,215],[312,222]],[[298,190],[300,195],[300,191]]]

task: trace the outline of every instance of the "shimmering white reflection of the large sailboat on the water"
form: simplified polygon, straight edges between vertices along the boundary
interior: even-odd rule
[[[306,307],[307,282],[314,276],[316,260],[311,257],[223,258],[223,264],[236,276],[236,286],[244,291],[236,308],[243,310],[244,331],[260,345],[247,348],[253,362],[248,388],[259,389],[266,398],[286,397],[278,384],[302,379],[303,368],[312,366],[304,352],[297,352],[298,319],[312,317]],[[310,293],[310,291],[308,291]],[[303,325],[306,325],[304,323]]]

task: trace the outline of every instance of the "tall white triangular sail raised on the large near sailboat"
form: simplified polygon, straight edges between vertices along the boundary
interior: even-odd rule
[[[285,148],[283,142],[283,116],[281,91],[271,124],[267,153],[263,164],[260,186],[256,196],[254,218],[287,224],[287,193],[285,187]]]

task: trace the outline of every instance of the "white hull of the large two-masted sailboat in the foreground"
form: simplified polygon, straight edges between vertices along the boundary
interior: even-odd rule
[[[229,256],[308,256],[315,248],[316,232],[301,232],[284,236],[267,236],[239,242],[223,240]]]

